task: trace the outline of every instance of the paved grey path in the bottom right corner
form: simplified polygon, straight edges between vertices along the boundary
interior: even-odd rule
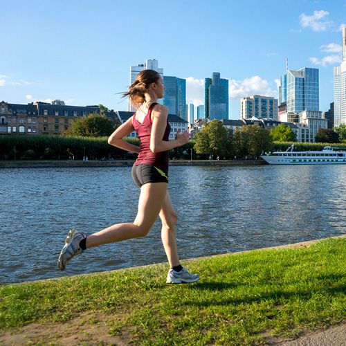
[[[323,331],[312,331],[292,341],[280,343],[283,346],[345,346],[346,323]]]

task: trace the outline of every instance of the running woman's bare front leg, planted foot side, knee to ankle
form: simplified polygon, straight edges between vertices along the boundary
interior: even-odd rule
[[[162,221],[161,238],[163,247],[165,248],[165,253],[167,255],[168,262],[170,263],[170,267],[173,268],[174,266],[179,266],[180,261],[178,251],[176,249],[175,226],[177,216],[168,191],[160,211],[160,219]]]

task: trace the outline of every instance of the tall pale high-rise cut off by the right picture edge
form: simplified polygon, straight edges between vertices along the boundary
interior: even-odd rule
[[[343,27],[343,62],[334,67],[334,126],[346,124],[346,26]]]

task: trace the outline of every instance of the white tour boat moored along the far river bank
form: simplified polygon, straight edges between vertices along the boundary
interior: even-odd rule
[[[286,152],[273,152],[261,157],[271,165],[346,164],[346,148],[328,145],[319,151],[296,152],[293,144]]]

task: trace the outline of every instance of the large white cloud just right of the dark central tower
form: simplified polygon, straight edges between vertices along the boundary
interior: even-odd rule
[[[279,82],[275,80],[275,84]],[[259,75],[245,78],[244,80],[230,80],[230,98],[245,98],[250,95],[263,95],[277,97],[277,90],[272,89],[267,80]]]

